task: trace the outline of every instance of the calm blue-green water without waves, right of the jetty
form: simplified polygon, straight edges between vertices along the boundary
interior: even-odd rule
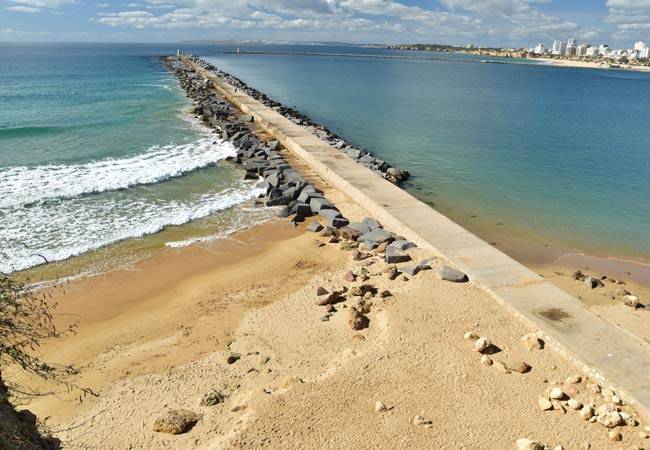
[[[454,217],[587,252],[650,256],[650,74],[334,56],[207,59],[409,170],[407,189]]]

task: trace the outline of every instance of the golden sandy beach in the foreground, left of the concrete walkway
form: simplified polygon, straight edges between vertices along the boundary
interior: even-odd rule
[[[346,216],[363,215],[331,197]],[[353,300],[322,321],[316,288],[348,284],[342,275],[364,263],[315,239],[279,221],[230,242],[168,251],[139,272],[74,283],[61,309],[80,314],[80,333],[46,354],[79,365],[78,382],[100,396],[82,406],[50,397],[30,408],[49,416],[63,448],[496,450],[521,437],[567,450],[643,445],[639,427],[622,428],[623,443],[614,443],[576,411],[542,412],[538,397],[569,389],[563,380],[576,368],[552,349],[528,351],[520,338],[535,330],[472,283],[441,281],[442,261],[390,281],[377,258],[368,283],[393,296],[372,300],[369,327],[348,326]],[[532,371],[482,365],[466,331],[500,348],[494,360],[523,360]],[[231,351],[241,355],[232,365]],[[601,404],[588,384],[574,396]],[[226,400],[200,406],[211,389]],[[388,411],[376,412],[376,401]],[[154,432],[169,408],[204,416],[186,434]],[[432,425],[415,425],[416,415]]]

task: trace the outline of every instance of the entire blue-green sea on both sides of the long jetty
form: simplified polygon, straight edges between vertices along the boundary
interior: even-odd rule
[[[454,54],[224,53],[237,47],[428,56],[0,43],[0,271],[187,223],[183,242],[270,216],[245,206],[257,192],[223,164],[233,148],[191,119],[156,59],[176,49],[409,170],[410,192],[453,218],[476,216],[470,229],[504,224],[585,252],[650,256],[650,74]]]

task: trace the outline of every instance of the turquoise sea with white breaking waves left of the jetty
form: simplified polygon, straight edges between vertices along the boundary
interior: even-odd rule
[[[212,222],[227,229],[259,218],[230,214],[258,192],[221,163],[232,145],[186,112],[154,57],[171,52],[0,45],[0,271],[215,214],[229,214]]]

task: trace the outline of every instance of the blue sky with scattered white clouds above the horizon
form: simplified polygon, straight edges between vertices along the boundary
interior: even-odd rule
[[[650,43],[650,0],[0,0],[0,41]]]

